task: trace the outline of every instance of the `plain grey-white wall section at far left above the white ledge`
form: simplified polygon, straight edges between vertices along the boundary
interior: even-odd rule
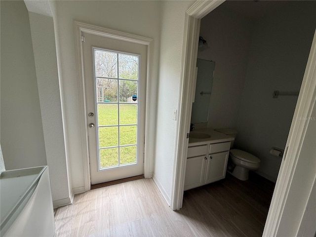
[[[28,10],[0,1],[1,147],[7,170],[46,165]]]

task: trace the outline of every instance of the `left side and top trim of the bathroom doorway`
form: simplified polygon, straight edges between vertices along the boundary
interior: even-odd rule
[[[171,203],[172,210],[179,210],[183,202],[184,177],[186,170],[186,157],[189,139],[187,133],[190,132],[193,81],[196,76],[197,47],[200,28],[200,19],[214,10],[224,1],[198,0],[187,11],[184,25],[184,42],[181,64],[181,81],[179,91],[179,119],[176,131],[176,151],[173,165]]]

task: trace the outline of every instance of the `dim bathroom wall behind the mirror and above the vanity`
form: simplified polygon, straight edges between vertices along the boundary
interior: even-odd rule
[[[209,48],[197,58],[215,62],[208,127],[236,127],[245,81],[253,22],[225,7],[224,2],[201,19],[200,36]],[[206,95],[207,96],[207,95]]]

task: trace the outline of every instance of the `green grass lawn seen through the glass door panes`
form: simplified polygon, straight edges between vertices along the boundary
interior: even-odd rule
[[[119,105],[119,126],[118,126],[118,105],[117,104],[98,104],[98,123],[99,125],[115,125],[111,127],[99,127],[99,148],[101,168],[136,162],[136,146],[106,148],[119,145],[136,144],[137,127],[137,107],[133,104]],[[119,132],[118,132],[119,131]]]

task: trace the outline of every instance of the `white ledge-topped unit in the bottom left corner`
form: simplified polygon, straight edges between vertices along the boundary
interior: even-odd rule
[[[53,201],[47,166],[0,175],[1,237],[53,237]]]

